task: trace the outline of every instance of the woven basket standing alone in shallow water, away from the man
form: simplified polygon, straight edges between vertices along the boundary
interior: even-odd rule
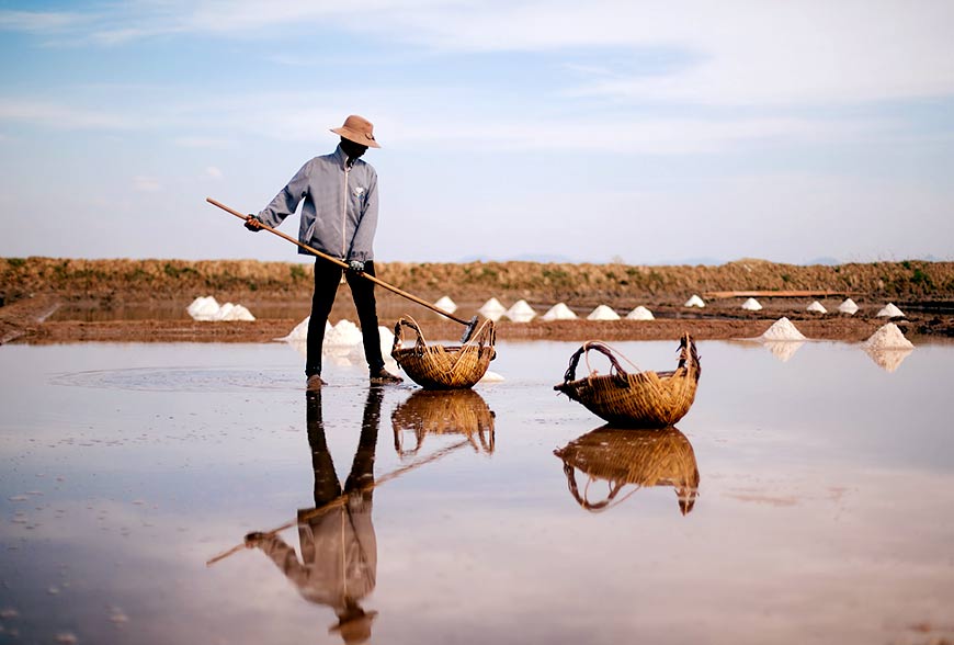
[[[580,357],[590,350],[597,350],[610,359],[610,373],[598,374],[592,371],[589,376],[577,380]],[[589,357],[587,359],[589,367]],[[603,342],[591,340],[570,358],[564,382],[555,385],[554,389],[583,404],[591,412],[615,426],[666,428],[679,421],[692,407],[701,372],[695,342],[689,333],[682,335],[679,364],[672,372],[627,373],[613,350]]]

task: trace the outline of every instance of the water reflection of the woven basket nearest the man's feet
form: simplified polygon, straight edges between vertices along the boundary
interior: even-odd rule
[[[428,434],[464,434],[474,450],[493,452],[493,412],[473,389],[419,389],[395,408],[390,420],[400,456],[417,454]],[[404,446],[406,432],[414,434],[412,449]]]

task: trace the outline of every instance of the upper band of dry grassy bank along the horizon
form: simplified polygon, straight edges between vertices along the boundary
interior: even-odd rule
[[[376,263],[378,278],[424,298],[530,302],[636,301],[681,304],[693,293],[828,291],[886,301],[954,299],[954,262],[873,262],[802,267],[739,260],[717,267],[536,262]],[[168,299],[215,293],[219,299],[310,297],[310,265],[254,260],[0,259],[0,298]],[[0,303],[2,304],[2,303]]]

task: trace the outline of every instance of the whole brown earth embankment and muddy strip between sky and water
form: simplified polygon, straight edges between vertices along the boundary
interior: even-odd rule
[[[501,321],[498,337],[582,340],[588,338],[670,339],[688,330],[696,338],[760,335],[766,321],[787,316],[811,338],[862,340],[884,324],[874,313],[894,302],[908,315],[899,320],[906,335],[954,336],[954,262],[874,262],[802,267],[762,260],[739,260],[718,267],[639,267],[625,264],[554,264],[534,262],[376,263],[378,276],[429,302],[450,295],[468,318],[488,298],[504,305],[527,301],[538,314],[564,302],[586,316],[600,304],[625,314],[649,307],[651,324]],[[741,296],[718,292],[810,292],[802,297],[759,297],[762,312],[740,309]],[[461,326],[418,305],[378,290],[383,325],[412,313],[427,324],[431,338],[455,338]],[[242,303],[255,322],[194,322],[185,306],[196,296]],[[692,294],[705,309],[682,306]],[[26,335],[31,341],[70,340],[268,340],[284,336],[308,314],[311,267],[253,260],[72,260],[0,258],[0,332],[7,340]],[[821,299],[829,310],[844,298],[860,306],[854,317],[808,314]],[[60,310],[46,322],[50,303]],[[10,305],[19,304],[16,307]],[[19,313],[18,313],[19,312]],[[79,313],[78,313],[79,312]],[[341,294],[332,321],[354,320],[353,306]],[[14,335],[14,336],[11,336]]]

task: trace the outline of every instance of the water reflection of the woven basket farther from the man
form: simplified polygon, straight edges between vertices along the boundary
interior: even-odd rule
[[[692,510],[699,496],[695,453],[685,434],[675,428],[598,428],[575,439],[565,448],[555,450],[554,454],[564,462],[570,494],[587,510],[607,508],[627,484],[636,486],[637,489],[672,486],[675,488],[682,514]],[[582,495],[577,487],[575,468],[589,477]],[[607,482],[610,493],[603,501],[591,502],[587,499],[587,490],[595,480]]]

